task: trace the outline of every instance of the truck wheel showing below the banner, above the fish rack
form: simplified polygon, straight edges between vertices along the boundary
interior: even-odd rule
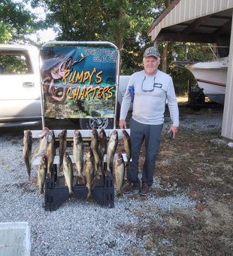
[[[113,129],[113,118],[80,118],[80,128],[81,130],[92,130],[93,128],[100,129]]]

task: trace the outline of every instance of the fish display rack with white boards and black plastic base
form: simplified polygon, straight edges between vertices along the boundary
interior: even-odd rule
[[[56,138],[56,148],[59,147],[59,139],[57,136],[61,130],[53,130]],[[41,130],[32,130],[32,138],[38,138]],[[127,130],[129,133],[129,130]],[[24,131],[26,133],[26,131]],[[67,130],[67,146],[72,147],[74,135],[74,130]],[[90,145],[90,133],[91,130],[80,130],[80,133],[83,135],[83,144],[84,146]],[[107,139],[110,138],[113,130],[105,130]],[[123,130],[117,130],[118,138],[123,139]],[[125,154],[123,154],[125,155]],[[57,156],[56,156],[57,157]],[[32,163],[33,165],[38,165],[41,157]],[[51,178],[46,178],[45,181],[45,210],[46,211],[55,211],[69,199],[68,187],[65,186],[65,177],[59,176],[57,171],[57,164],[59,164],[59,159],[54,160],[53,166],[50,169]],[[104,162],[104,171],[106,172],[107,163]],[[75,176],[74,176],[75,177]],[[86,198],[88,194],[88,189],[86,184],[76,184],[73,186],[74,198]],[[96,203],[106,208],[114,207],[114,175],[113,168],[111,168],[110,176],[101,175],[100,179],[95,178],[95,187],[92,189],[92,196]]]

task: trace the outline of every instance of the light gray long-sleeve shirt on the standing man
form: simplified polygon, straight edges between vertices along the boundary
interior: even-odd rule
[[[132,100],[129,86],[135,90],[132,118],[139,123],[158,125],[164,123],[166,99],[171,120],[174,126],[179,126],[179,109],[170,75],[158,70],[156,75],[147,75],[144,70],[135,72],[129,79],[129,84],[123,97],[120,110],[120,120],[126,120]]]

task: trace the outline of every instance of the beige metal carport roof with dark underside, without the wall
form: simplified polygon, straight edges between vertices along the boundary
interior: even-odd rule
[[[233,0],[174,0],[147,34],[152,40],[216,43],[230,38]]]

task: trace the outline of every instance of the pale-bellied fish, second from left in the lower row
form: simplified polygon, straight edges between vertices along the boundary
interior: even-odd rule
[[[68,186],[68,198],[74,196],[73,192],[73,184],[74,184],[74,175],[73,175],[73,163],[71,161],[71,157],[69,157],[68,153],[65,152],[63,156],[63,172],[65,176],[65,186]]]

